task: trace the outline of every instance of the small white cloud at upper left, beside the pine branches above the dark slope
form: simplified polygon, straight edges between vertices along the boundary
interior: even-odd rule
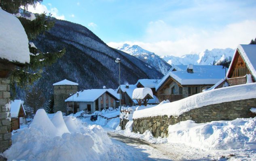
[[[36,8],[34,8],[33,6],[28,6],[28,11],[32,12],[32,13],[51,13],[52,17],[55,17],[56,19],[60,19],[60,20],[65,20],[65,16],[63,14],[59,15],[59,11],[57,8],[55,7],[51,7],[51,4],[48,4],[50,6],[50,9],[47,8],[47,6],[37,3],[36,4]]]

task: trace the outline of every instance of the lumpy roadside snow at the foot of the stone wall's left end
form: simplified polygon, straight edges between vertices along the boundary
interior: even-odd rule
[[[167,138],[161,138],[161,137],[154,138],[154,136],[149,130],[146,130],[146,132],[144,132],[143,134],[140,134],[139,132],[138,133],[132,132],[132,126],[133,126],[133,121],[130,120],[125,125],[125,130],[121,130],[121,127],[117,126],[114,132],[124,136],[131,137],[131,138],[139,138],[151,144],[161,144],[161,143],[167,142]]]

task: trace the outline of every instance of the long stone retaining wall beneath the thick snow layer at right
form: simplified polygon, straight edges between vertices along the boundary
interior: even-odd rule
[[[196,123],[217,120],[235,120],[236,118],[250,118],[250,108],[256,107],[256,99],[245,99],[207,105],[184,112],[180,116],[156,116],[133,120],[133,132],[144,133],[150,130],[154,137],[168,136],[168,126],[181,121],[193,120]]]

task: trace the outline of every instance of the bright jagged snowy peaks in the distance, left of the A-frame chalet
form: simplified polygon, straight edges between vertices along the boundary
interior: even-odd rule
[[[216,64],[222,64],[224,60],[231,61],[235,50],[231,48],[226,49],[213,49],[205,50],[204,52],[198,54],[187,54],[181,57],[177,56],[161,56],[169,64],[174,65],[186,65],[186,64],[195,64],[195,65],[209,65],[213,64],[214,58]]]

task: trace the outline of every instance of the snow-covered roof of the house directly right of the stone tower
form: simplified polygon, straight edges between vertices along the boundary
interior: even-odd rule
[[[115,99],[119,99],[119,94],[114,89],[87,89],[68,97],[65,102],[73,101],[73,99],[74,102],[94,102],[106,92],[110,93]]]

